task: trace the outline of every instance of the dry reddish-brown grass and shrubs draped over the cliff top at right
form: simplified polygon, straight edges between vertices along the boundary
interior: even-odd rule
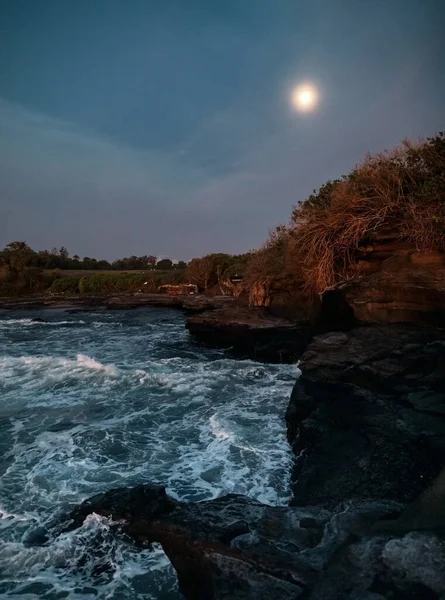
[[[445,136],[367,157],[297,206],[285,231],[259,251],[250,281],[291,274],[320,294],[356,278],[357,254],[387,233],[445,251]]]

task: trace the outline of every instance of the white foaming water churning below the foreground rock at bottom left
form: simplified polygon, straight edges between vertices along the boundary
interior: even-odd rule
[[[136,578],[147,600],[155,600],[159,592],[179,598],[175,573],[160,545],[141,551],[123,544],[111,525],[93,513],[79,530],[45,545],[2,544],[0,561],[8,569],[11,597],[36,598],[45,590],[48,597],[59,597],[62,592],[63,597],[68,593],[73,599],[123,598]]]

